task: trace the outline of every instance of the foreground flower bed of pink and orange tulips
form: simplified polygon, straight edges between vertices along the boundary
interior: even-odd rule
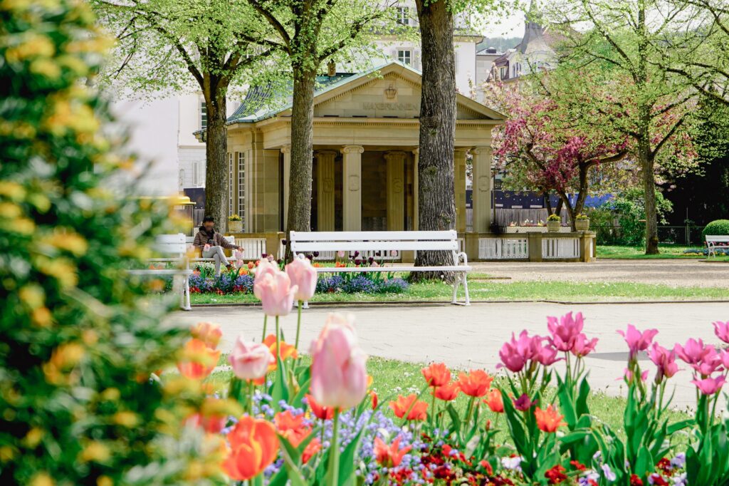
[[[581,314],[548,317],[546,336],[512,335],[499,351],[500,382],[485,370],[456,377],[445,364],[433,363],[422,370],[418,393],[378,397],[353,317],[327,318],[312,343],[311,366],[296,351],[301,314],[294,344],[281,339],[278,317],[295,301],[311,298],[315,288],[311,264],[296,266],[284,273],[263,263],[254,293],[262,301],[266,339],[259,344],[238,338],[229,357],[228,392],[209,398],[214,413],[201,409],[190,420],[208,440],[223,444],[221,468],[232,481],[580,486],[729,481],[729,420],[717,416],[727,350],[695,339],[669,350],[655,342],[655,329],[628,325],[620,332],[628,348],[623,431],[601,423],[588,408],[585,356],[598,340],[583,332]],[[276,323],[271,334],[269,320]],[[729,322],[714,323],[714,331],[729,343]],[[179,363],[184,377],[200,382],[211,373],[219,338],[214,325],[193,330],[190,352]],[[642,352],[650,369],[639,362]],[[677,358],[690,370],[697,402],[693,417],[675,421],[666,411]],[[545,391],[553,384],[557,393],[548,398]],[[459,411],[453,400],[461,393],[468,405]],[[499,431],[507,433],[506,441],[496,439]]]

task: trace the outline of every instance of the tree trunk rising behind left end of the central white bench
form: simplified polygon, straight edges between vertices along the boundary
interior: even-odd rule
[[[291,172],[287,231],[311,230],[311,163],[313,159],[314,84],[316,68],[294,66],[291,111]],[[286,234],[286,259],[291,256]]]

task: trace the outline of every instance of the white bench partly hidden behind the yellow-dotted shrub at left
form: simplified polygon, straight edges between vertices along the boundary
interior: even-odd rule
[[[155,240],[153,247],[160,255],[168,255],[160,258],[150,258],[150,263],[174,263],[174,269],[144,269],[130,270],[133,275],[171,275],[173,277],[172,288],[180,292],[180,307],[184,310],[190,307],[190,262],[187,259],[187,241],[184,234],[160,234]]]

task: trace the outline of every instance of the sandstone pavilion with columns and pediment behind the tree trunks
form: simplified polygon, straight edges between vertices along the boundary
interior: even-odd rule
[[[314,231],[418,229],[421,75],[392,62],[372,72],[319,79],[314,98]],[[246,233],[284,231],[288,207],[291,104],[254,105],[253,90],[228,119],[230,212]],[[472,231],[491,223],[491,129],[504,117],[457,97],[456,229],[466,231],[466,158],[473,164]],[[260,106],[260,104],[258,105]]]

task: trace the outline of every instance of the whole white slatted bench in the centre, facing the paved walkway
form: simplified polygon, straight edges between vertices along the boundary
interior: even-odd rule
[[[317,273],[370,272],[370,271],[453,271],[456,282],[453,283],[451,304],[458,304],[456,293],[459,285],[463,285],[466,298],[465,305],[470,305],[468,296],[467,273],[471,270],[468,257],[459,252],[458,234],[456,231],[292,231],[289,236],[291,251],[298,258],[313,252],[361,252],[390,255],[391,252],[445,250],[451,252],[451,261],[439,266],[361,266],[361,267],[315,267]]]

